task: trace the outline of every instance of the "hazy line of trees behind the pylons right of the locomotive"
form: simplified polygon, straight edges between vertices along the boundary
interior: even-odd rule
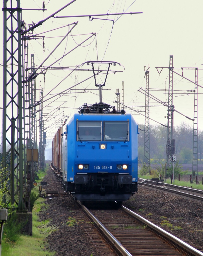
[[[144,124],[139,128],[139,160],[144,162]],[[193,158],[193,126],[182,122],[173,127],[175,139],[176,161],[182,164],[191,164]],[[162,125],[149,126],[149,152],[151,163],[163,163],[166,161],[167,127]],[[198,131],[198,159],[202,161],[203,131]]]

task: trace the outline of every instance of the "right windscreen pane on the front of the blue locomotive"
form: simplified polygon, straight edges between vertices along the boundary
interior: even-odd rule
[[[105,141],[129,141],[129,122],[113,121],[104,122]]]

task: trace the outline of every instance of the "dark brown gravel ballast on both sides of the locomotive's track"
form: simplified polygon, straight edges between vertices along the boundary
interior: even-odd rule
[[[64,193],[50,169],[43,181],[47,182],[43,190]],[[203,252],[203,202],[138,186],[138,193],[123,205]],[[69,196],[45,199],[39,220],[49,219],[48,225],[54,230],[46,239],[46,249],[56,251],[56,256],[108,255],[102,254],[98,244],[94,243],[89,232],[91,223],[83,225],[84,221],[80,222],[80,219],[84,216],[81,213],[78,217],[77,212],[78,208]],[[70,218],[76,219],[77,225],[67,225]]]

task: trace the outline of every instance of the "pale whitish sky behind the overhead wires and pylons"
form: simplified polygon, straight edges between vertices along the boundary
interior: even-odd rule
[[[64,0],[59,0],[58,2],[45,0],[44,2],[45,8],[47,8],[47,11],[44,12],[44,17],[42,11],[24,10],[22,12],[22,17],[26,24],[32,24],[32,22],[37,23],[68,3],[68,1]],[[42,1],[21,0],[21,8],[42,8]],[[118,65],[111,66],[111,70],[120,70],[124,72],[118,72],[116,75],[108,75],[106,87],[104,87],[104,89],[111,90],[103,90],[103,101],[110,105],[117,106],[116,103],[113,103],[113,101],[117,100],[115,95],[116,89],[119,89],[121,92],[122,81],[124,81],[124,104],[132,105],[133,103],[137,106],[143,106],[145,103],[145,96],[137,90],[139,87],[145,87],[144,66],[147,65],[150,67],[149,87],[158,88],[160,90],[166,89],[166,91],[151,90],[150,93],[160,100],[168,102],[167,90],[169,70],[163,69],[159,75],[155,67],[168,67],[170,55],[173,55],[173,66],[175,69],[180,69],[181,67],[197,67],[199,69],[198,84],[202,86],[202,10],[202,0],[77,0],[55,16],[93,15],[106,14],[107,12],[122,13],[123,11],[143,12],[143,14],[123,15],[121,17],[117,15],[108,16],[109,20],[104,20],[107,17],[102,16],[96,18],[102,18],[103,20],[94,19],[93,21],[90,21],[88,17],[50,18],[43,25],[36,28],[34,34],[78,21],[78,25],[72,30],[72,36],[68,37],[68,40],[65,39],[63,41],[53,53],[53,57],[50,57],[45,62],[45,66],[49,66],[55,58],[58,59],[62,57],[64,53],[67,53],[77,46],[77,43],[79,44],[89,37],[90,33],[96,33],[96,39],[92,37],[92,39],[83,44],[86,47],[78,47],[71,52],[71,54],[64,57],[61,62],[59,61],[60,66],[71,67],[81,65],[85,61],[94,61],[97,60],[97,58],[98,60],[103,59],[104,61],[119,62],[124,66],[125,70]],[[1,12],[0,15],[1,20],[3,21],[3,12]],[[110,19],[115,21],[114,25]],[[1,34],[3,35],[3,26],[1,27],[1,30]],[[30,55],[35,54],[35,65],[39,66],[48,56],[49,52],[56,47],[62,38],[61,36],[65,36],[67,32],[68,27],[64,27],[45,33],[45,53],[43,53],[42,39],[30,40],[28,52],[29,63]],[[0,62],[3,63],[3,48]],[[55,64],[54,66],[59,66],[59,64]],[[84,65],[83,68],[87,68],[87,66]],[[103,69],[105,67],[101,68]],[[180,74],[182,72],[181,69],[175,71]],[[0,77],[2,79],[1,87],[3,87],[2,72],[3,67],[0,66]],[[46,95],[49,90],[54,88],[69,72],[70,71],[48,70],[45,75],[45,84],[43,75],[39,75],[36,79],[36,87],[39,89],[39,81],[41,80],[42,87],[45,89],[44,95]],[[184,70],[183,74],[188,79],[194,81],[194,70]],[[52,93],[59,93],[92,75],[92,71],[73,72],[71,77],[62,82]],[[101,82],[104,82],[105,76],[99,77],[101,77]],[[63,114],[65,116],[69,116],[72,112],[71,108],[77,108],[85,102],[87,104],[99,102],[99,96],[93,94],[98,94],[95,90],[90,90],[89,93],[78,93],[81,92],[82,89],[84,90],[84,88],[96,89],[94,79],[87,80],[75,88],[77,90],[72,90],[72,94],[67,94],[50,105],[57,107],[66,101],[66,103],[62,105],[66,108],[63,109],[61,106],[60,111],[53,115],[51,113],[53,117],[51,122],[48,122],[51,117],[49,115],[47,116],[49,118],[44,123],[45,127],[53,125],[53,123],[56,124],[56,127],[53,125],[51,130],[47,129],[47,140],[53,138],[54,133],[60,126],[60,122],[57,122],[60,118],[56,115],[60,115],[61,111],[64,111]],[[175,106],[175,109],[190,118],[193,118],[194,94],[190,93],[189,95],[183,95],[182,92],[184,90],[194,90],[194,84],[173,74],[173,89],[182,90],[179,92],[174,91],[173,105]],[[177,92],[178,94],[175,94]],[[203,130],[203,89],[198,88],[198,93],[198,129]],[[150,102],[150,105],[158,105],[153,100],[150,100]],[[44,106],[45,105],[47,105],[46,102],[44,103]],[[2,106],[3,102],[0,98],[0,107]],[[51,109],[51,107],[44,108],[44,114],[49,113]],[[137,107],[136,110],[143,111],[144,108]],[[132,114],[135,114],[134,117],[138,124],[144,124],[144,116],[135,112]],[[164,118],[165,115],[167,115],[166,107],[150,107],[150,118],[166,124],[167,120]],[[182,121],[193,125],[192,121],[178,113],[174,113],[174,125],[179,125]],[[150,121],[150,124],[155,124],[155,122]]]

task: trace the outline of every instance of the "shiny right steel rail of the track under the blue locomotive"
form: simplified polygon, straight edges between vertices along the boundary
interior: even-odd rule
[[[172,234],[168,233],[167,231],[163,230],[162,228],[156,226],[155,224],[151,223],[150,221],[144,219],[142,216],[139,216],[135,212],[131,211],[130,209],[126,208],[125,206],[121,206],[121,209],[126,212],[127,214],[130,214],[133,216],[133,218],[137,219],[139,222],[144,223],[147,227],[152,229],[155,232],[160,233],[162,236],[164,236],[167,240],[172,241],[173,243],[177,244],[183,250],[186,250],[187,252],[191,253],[191,255],[194,256],[203,256],[203,253],[199,250],[195,249],[194,247],[190,246],[189,244],[183,242],[181,239],[173,236]]]

